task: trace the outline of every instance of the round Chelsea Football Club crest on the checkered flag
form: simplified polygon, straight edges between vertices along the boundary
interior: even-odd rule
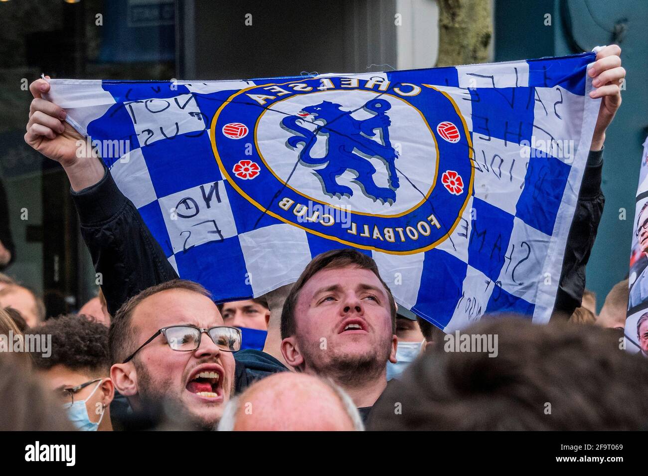
[[[211,141],[224,178],[259,210],[362,249],[432,249],[472,195],[466,122],[433,85],[352,76],[249,87],[216,111]]]

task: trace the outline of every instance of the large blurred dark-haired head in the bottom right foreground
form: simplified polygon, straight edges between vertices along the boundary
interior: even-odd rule
[[[619,348],[616,332],[526,319],[482,321],[465,332],[498,336],[496,357],[455,346],[425,352],[378,400],[369,429],[645,428],[648,365]]]

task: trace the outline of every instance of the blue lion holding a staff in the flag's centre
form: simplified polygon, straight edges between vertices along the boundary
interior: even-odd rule
[[[373,117],[358,120],[351,117],[352,111],[342,111],[340,104],[323,101],[316,106],[307,106],[296,116],[288,116],[281,121],[281,126],[293,133],[286,146],[296,149],[303,144],[299,152],[301,164],[309,167],[325,165],[314,170],[321,182],[323,192],[330,197],[341,198],[353,196],[353,190],[340,185],[337,178],[347,170],[356,174],[354,183],[360,186],[365,196],[392,205],[396,201],[395,190],[399,188],[399,177],[396,173],[396,151],[389,142],[391,120],[386,111],[391,104],[384,99],[373,99],[364,106],[366,111],[375,113]],[[322,121],[315,132],[300,125],[303,118],[314,117],[313,122]],[[376,136],[376,129],[382,135],[382,144],[371,139]],[[318,135],[327,136],[326,154],[323,157],[312,157],[310,152]],[[354,152],[355,151],[355,152]],[[389,187],[378,187],[373,175],[376,168],[369,158],[377,157],[386,166],[389,176]]]

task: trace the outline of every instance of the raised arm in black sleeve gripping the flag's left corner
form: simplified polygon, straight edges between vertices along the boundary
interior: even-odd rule
[[[65,122],[65,111],[41,97],[45,80],[30,85],[34,96],[25,142],[60,163],[72,188],[81,232],[114,315],[130,297],[178,275],[151,235],[133,203],[87,141]]]

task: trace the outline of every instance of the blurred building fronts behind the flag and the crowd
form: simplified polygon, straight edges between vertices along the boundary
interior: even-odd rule
[[[645,0],[0,0],[0,181],[15,260],[48,315],[95,295],[63,170],[23,141],[29,83],[220,80],[524,60],[616,43],[627,82],[605,142],[603,220],[587,270],[598,308],[628,274],[648,135]],[[1,221],[0,221],[1,223]]]

